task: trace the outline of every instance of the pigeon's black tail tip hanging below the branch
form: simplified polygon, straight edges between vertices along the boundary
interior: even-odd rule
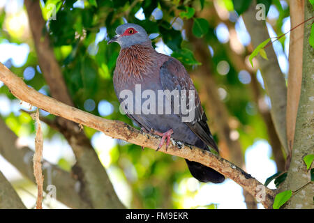
[[[223,180],[225,180],[223,174],[219,174],[216,170],[206,167],[203,164],[190,160],[186,160],[186,163],[188,164],[190,174],[201,182],[223,183]]]

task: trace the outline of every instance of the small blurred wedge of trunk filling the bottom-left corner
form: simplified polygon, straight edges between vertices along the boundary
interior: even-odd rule
[[[17,192],[0,171],[0,209],[26,209]]]

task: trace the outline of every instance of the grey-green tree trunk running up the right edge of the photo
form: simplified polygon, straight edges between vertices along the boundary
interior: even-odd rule
[[[313,17],[313,8],[309,1],[304,2],[304,20]],[[311,181],[310,171],[306,170],[304,156],[314,151],[314,49],[309,45],[311,23],[304,26],[304,51],[301,95],[295,126],[292,159],[285,184],[281,190],[296,191]],[[313,167],[313,164],[312,164]],[[314,183],[294,194],[284,208],[313,209]]]

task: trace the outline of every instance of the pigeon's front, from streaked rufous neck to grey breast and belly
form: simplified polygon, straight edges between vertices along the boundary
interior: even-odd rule
[[[156,58],[158,56],[158,58]],[[160,82],[160,67],[169,56],[151,52],[122,51],[114,70],[114,90],[121,109],[147,130],[174,130],[173,139],[204,147],[202,141],[174,112]],[[170,108],[169,108],[170,107]]]

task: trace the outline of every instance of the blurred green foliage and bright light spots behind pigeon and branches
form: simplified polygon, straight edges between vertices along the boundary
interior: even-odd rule
[[[267,27],[271,37],[280,36],[290,29],[287,1],[260,2],[267,6]],[[47,20],[51,47],[75,106],[97,116],[131,125],[134,123],[119,112],[119,103],[112,85],[119,45],[107,45],[107,40],[115,35],[117,26],[124,22],[140,24],[149,33],[158,52],[171,54],[184,63],[195,86],[200,90],[204,83],[194,78],[196,74],[193,70],[201,66],[201,63],[195,59],[193,43],[188,40],[186,30],[186,24],[192,22],[193,35],[204,40],[211,53],[211,58],[208,58],[211,73],[207,75],[214,77],[220,100],[227,107],[228,123],[232,129],[230,138],[239,140],[243,154],[249,148],[260,149],[263,146],[267,147],[265,153],[269,154],[269,136],[253,97],[252,78],[257,79],[257,87],[266,110],[270,108],[269,98],[264,93],[264,84],[257,66],[251,68],[249,65],[248,55],[253,48],[240,15],[250,3],[251,1],[232,0],[44,0],[40,1],[40,6],[43,17]],[[55,15],[52,13],[54,7],[51,6],[55,6]],[[285,75],[288,70],[288,38],[288,35],[281,38],[276,45],[278,49],[275,49]],[[241,66],[234,63],[230,52],[242,59],[241,63],[246,69],[239,69]],[[38,66],[23,1],[0,1],[0,61],[33,89],[50,95],[49,86]],[[208,114],[209,107],[203,91],[200,91],[200,97]],[[20,137],[20,144],[31,148],[35,134],[34,123],[29,114],[22,111],[31,112],[34,109],[25,103],[20,105],[20,101],[0,82],[1,118]],[[40,111],[40,114],[48,119],[54,118],[45,111]],[[209,116],[209,125],[216,141],[221,145],[217,130],[212,125],[213,118]],[[43,130],[45,159],[69,171],[75,163],[75,157],[65,139],[48,125],[43,124]],[[151,149],[142,151],[139,146],[110,139],[91,128],[84,127],[84,132],[91,139],[100,161],[107,169],[119,198],[128,208],[217,208],[220,205],[245,208],[243,198],[241,201],[232,200],[232,196],[241,198],[241,188],[234,189],[236,185],[232,183],[220,186],[223,190],[230,189],[231,194],[239,194],[236,196],[226,192],[230,206],[226,203],[223,206],[223,203],[219,203],[223,201],[219,199],[211,200],[209,195],[204,201],[204,196],[207,196],[205,191],[211,190],[214,193],[219,186],[199,183],[191,178],[184,160],[179,157],[155,153]],[[257,145],[259,142],[262,146]],[[258,160],[258,155],[255,159]],[[268,159],[272,160],[273,157],[268,155]],[[10,171],[6,173],[8,164],[4,164],[3,159],[1,162],[1,171],[31,207],[33,201],[30,200],[33,197],[29,194],[35,194],[34,188],[21,177],[10,177]],[[276,172],[276,164],[272,164],[274,168],[270,170],[267,167],[255,169],[260,169],[262,178],[265,174],[271,176]],[[258,179],[259,172],[248,173]],[[223,197],[223,192],[219,196]],[[218,203],[218,206],[213,203]]]

